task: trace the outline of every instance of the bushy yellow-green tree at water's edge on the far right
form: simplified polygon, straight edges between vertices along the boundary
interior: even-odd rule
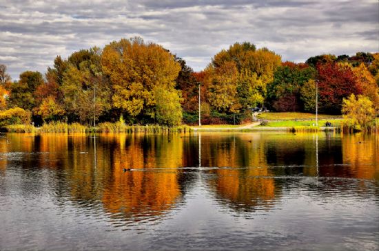
[[[376,118],[371,100],[362,95],[356,97],[354,94],[351,94],[349,98],[344,98],[342,114],[347,124],[358,131],[369,129]]]

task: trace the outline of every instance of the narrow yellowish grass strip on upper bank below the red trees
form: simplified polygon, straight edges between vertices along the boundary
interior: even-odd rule
[[[316,114],[314,113],[302,113],[302,112],[268,112],[260,113],[257,116],[260,120],[305,120],[305,119],[315,119]],[[318,118],[342,118],[342,116],[329,115],[329,114],[318,114]]]

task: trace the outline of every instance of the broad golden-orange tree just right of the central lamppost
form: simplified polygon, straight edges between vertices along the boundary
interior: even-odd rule
[[[230,78],[231,74],[225,74],[227,72],[225,69],[232,69],[232,65],[236,69],[234,78]],[[267,84],[272,82],[278,65],[280,65],[280,56],[267,48],[256,50],[255,45],[251,43],[235,43],[229,47],[229,50],[222,50],[212,58],[212,64],[208,67],[208,72],[213,74],[209,78],[212,88],[209,87],[208,90],[211,93],[208,95],[212,99],[211,105],[218,102],[216,109],[220,110],[223,105],[225,112],[238,112],[263,104]],[[227,85],[229,97],[225,96],[225,83],[229,83]],[[220,96],[222,100],[216,101],[216,96]]]

